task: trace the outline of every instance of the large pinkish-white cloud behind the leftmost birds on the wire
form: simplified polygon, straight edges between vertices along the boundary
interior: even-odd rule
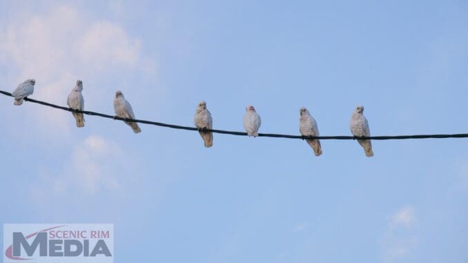
[[[35,78],[32,97],[64,105],[75,81],[84,76],[86,95],[90,95],[86,83],[93,76],[117,84],[125,78],[122,72],[154,75],[154,61],[142,55],[142,41],[117,23],[92,19],[72,6],[44,13],[23,12],[0,26],[0,64],[8,68],[5,81],[10,90],[23,79]],[[113,85],[102,85],[99,92],[92,92],[114,91]],[[69,116],[58,110],[38,107],[28,114],[46,133],[62,135],[70,128]]]

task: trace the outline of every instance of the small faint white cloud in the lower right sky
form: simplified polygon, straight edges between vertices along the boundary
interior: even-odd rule
[[[418,243],[412,231],[416,221],[413,206],[403,206],[389,217],[389,226],[382,238],[384,262],[395,262],[411,254]]]

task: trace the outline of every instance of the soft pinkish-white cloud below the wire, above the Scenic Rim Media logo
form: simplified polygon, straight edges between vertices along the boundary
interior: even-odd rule
[[[115,142],[90,135],[77,142],[58,171],[45,168],[30,188],[33,199],[70,194],[94,195],[100,192],[121,194],[124,186],[137,177],[135,161]],[[128,177],[127,175],[132,175]],[[45,186],[45,187],[42,187]],[[52,186],[52,193],[44,188]]]

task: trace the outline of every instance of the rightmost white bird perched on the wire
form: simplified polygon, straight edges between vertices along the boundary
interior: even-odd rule
[[[364,106],[357,106],[351,115],[351,122],[349,128],[351,133],[357,137],[369,137],[371,132],[369,130],[369,124],[367,123],[366,117],[362,115],[364,113]],[[358,139],[358,143],[364,148],[364,153],[367,157],[372,157],[372,144],[370,139]]]

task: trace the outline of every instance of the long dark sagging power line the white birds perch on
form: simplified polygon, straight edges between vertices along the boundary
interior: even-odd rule
[[[0,93],[6,96],[13,97],[10,92],[6,92],[0,90]],[[83,113],[86,115],[92,116],[99,116],[108,119],[117,119],[119,121],[130,121],[130,122],[137,122],[140,124],[150,124],[155,126],[162,126],[167,128],[174,128],[179,130],[196,130],[199,131],[199,128],[190,127],[190,126],[180,126],[175,124],[165,124],[163,122],[157,121],[146,121],[144,119],[127,119],[117,117],[115,115],[107,115],[104,113],[96,113],[90,110],[73,110],[68,107],[59,106],[56,104],[50,104],[46,101],[39,101],[37,99],[30,99],[28,97],[24,98],[25,101],[29,101],[35,104],[41,104],[43,106],[48,106],[52,108],[58,108],[60,110],[66,110],[73,113]],[[215,129],[202,129],[207,132],[212,133],[221,133],[221,134],[228,134],[228,135],[237,135],[237,136],[248,136],[247,133],[237,132],[233,130],[215,130]],[[392,136],[370,136],[370,137],[356,137],[356,136],[301,136],[301,135],[284,135],[284,134],[276,134],[276,133],[259,133],[258,137],[273,137],[273,138],[287,138],[287,139],[374,139],[374,140],[387,140],[387,139],[443,139],[443,138],[467,138],[468,133],[458,133],[458,134],[432,134],[432,135],[392,135]]]

